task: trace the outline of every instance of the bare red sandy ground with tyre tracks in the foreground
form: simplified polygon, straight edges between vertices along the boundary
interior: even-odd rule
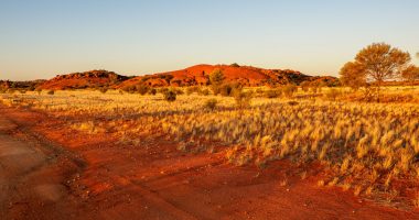
[[[419,219],[318,187],[315,167],[301,179],[288,162],[235,167],[159,136],[129,146],[39,112],[0,116],[0,219]]]

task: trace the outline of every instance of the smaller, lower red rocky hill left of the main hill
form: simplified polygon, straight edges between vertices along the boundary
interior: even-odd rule
[[[90,70],[90,72],[84,72],[84,73],[58,75],[50,80],[44,81],[37,88],[61,90],[61,89],[114,87],[126,79],[129,79],[129,77],[118,75],[114,72]]]

